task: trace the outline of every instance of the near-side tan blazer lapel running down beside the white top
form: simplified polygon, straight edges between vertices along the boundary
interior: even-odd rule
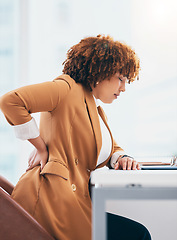
[[[102,146],[102,136],[101,136],[101,129],[100,129],[100,120],[98,117],[98,110],[95,104],[95,100],[93,95],[90,91],[85,90],[85,102],[87,104],[88,114],[90,117],[90,121],[92,124],[96,146],[97,146],[97,159],[101,150]]]

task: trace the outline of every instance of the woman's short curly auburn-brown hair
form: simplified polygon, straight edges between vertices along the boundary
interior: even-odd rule
[[[119,72],[133,82],[139,74],[139,58],[125,43],[109,35],[87,37],[72,46],[63,62],[63,73],[92,90],[97,82],[110,79]]]

